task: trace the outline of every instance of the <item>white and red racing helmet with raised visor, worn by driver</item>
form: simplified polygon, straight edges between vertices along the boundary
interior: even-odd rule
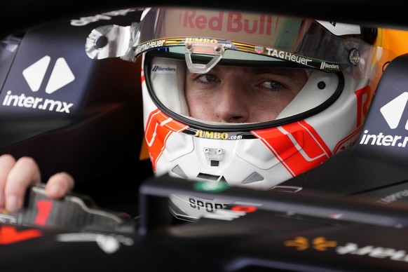
[[[135,29],[135,43],[123,58],[143,56],[144,132],[156,175],[268,190],[358,139],[378,81],[376,29],[363,35],[355,25],[191,8],[148,8]],[[200,108],[212,118],[197,116],[196,104],[187,102],[186,74],[207,82],[218,80],[212,71],[231,66],[281,71],[278,76],[288,72],[294,74],[290,81],[300,81],[298,75],[304,81],[284,107],[265,105],[268,99],[252,103],[252,109],[278,109],[266,119],[238,112],[231,123],[215,117],[217,107],[228,104],[221,96]],[[250,76],[248,71],[236,74],[236,85]],[[236,107],[251,104],[252,94],[240,91]],[[184,201],[190,208],[207,203],[202,207],[210,210],[226,205],[192,199],[173,198],[179,208]],[[191,212],[180,208],[177,214],[188,218]]]

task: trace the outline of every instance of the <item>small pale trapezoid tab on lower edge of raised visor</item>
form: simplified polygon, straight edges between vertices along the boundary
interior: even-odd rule
[[[207,64],[193,63],[191,54],[214,55]],[[187,68],[191,73],[208,73],[222,59],[224,47],[217,43],[188,42],[186,43],[185,58]]]

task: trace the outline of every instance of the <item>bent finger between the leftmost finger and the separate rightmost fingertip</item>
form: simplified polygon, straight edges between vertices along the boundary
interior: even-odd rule
[[[22,207],[25,192],[31,184],[41,182],[40,170],[33,158],[22,157],[18,159],[11,169],[4,189],[6,210],[17,212]]]

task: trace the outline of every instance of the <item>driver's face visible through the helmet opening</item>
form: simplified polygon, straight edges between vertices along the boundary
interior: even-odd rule
[[[200,120],[272,121],[307,79],[303,69],[217,65],[208,74],[186,72],[186,100],[190,116]]]

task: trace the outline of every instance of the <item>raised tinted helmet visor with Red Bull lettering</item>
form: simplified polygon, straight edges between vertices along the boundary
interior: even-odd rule
[[[316,20],[263,13],[150,8],[137,25],[133,48],[135,56],[151,49],[170,48],[184,54],[187,62],[191,55],[211,56],[212,63],[201,68],[203,72],[208,72],[221,58],[240,59],[230,51],[252,53],[259,60],[274,58],[293,62],[325,72],[356,66],[364,71],[370,62],[362,60],[371,57],[367,54],[371,46],[357,39],[360,27],[343,27],[340,34],[348,37],[344,39],[344,35],[329,32],[327,25]]]

